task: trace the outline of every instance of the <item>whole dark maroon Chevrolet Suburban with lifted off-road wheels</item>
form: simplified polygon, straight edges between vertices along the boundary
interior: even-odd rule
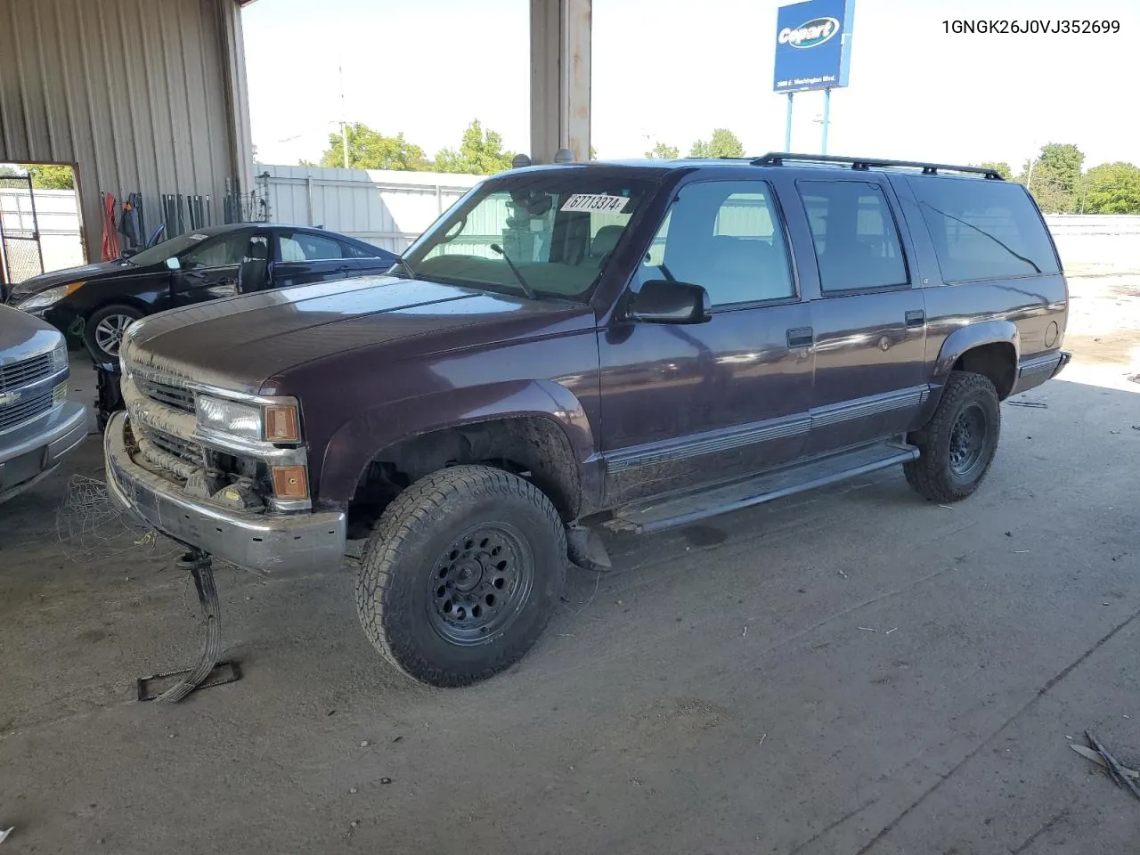
[[[771,154],[535,166],[388,275],[133,325],[113,496],[259,573],[335,570],[404,673],[518,661],[600,528],[686,524],[901,465],[974,492],[1054,376],[1068,292],[1020,185]]]

